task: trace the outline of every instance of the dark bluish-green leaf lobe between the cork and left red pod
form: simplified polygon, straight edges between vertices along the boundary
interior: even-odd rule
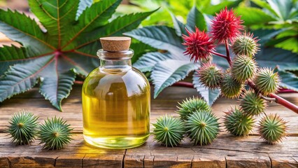
[[[176,35],[176,31],[170,27],[152,26],[135,29],[125,33],[137,40],[146,43],[153,48],[168,50],[174,54],[183,53],[182,39]]]

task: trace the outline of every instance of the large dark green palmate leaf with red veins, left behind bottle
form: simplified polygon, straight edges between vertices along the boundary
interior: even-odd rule
[[[29,0],[43,28],[22,13],[0,9],[0,31],[23,46],[0,48],[0,102],[41,81],[41,94],[62,111],[62,99],[69,96],[76,74],[87,76],[99,66],[99,38],[131,31],[154,12],[111,20],[120,2]]]

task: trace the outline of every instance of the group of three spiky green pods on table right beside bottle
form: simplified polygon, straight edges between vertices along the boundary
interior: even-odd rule
[[[195,145],[211,144],[220,130],[218,118],[211,112],[211,107],[204,100],[194,97],[179,105],[180,118],[162,116],[152,124],[155,127],[154,139],[165,146],[177,146],[183,135],[187,135]]]

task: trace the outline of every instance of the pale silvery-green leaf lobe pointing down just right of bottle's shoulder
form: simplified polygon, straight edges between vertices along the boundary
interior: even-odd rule
[[[152,69],[151,78],[153,80],[154,98],[164,90],[165,87],[173,85],[176,81],[185,78],[190,71],[197,69],[198,64],[187,61],[166,59],[158,62]]]

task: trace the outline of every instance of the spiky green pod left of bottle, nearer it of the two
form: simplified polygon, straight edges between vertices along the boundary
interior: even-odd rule
[[[40,125],[38,139],[45,144],[46,149],[61,149],[71,142],[71,129],[63,118],[48,118],[43,125]]]

